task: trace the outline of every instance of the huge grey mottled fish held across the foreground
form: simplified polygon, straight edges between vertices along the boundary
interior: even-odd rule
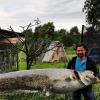
[[[33,69],[0,74],[0,92],[9,90],[49,90],[71,92],[97,82],[91,71],[71,69]]]

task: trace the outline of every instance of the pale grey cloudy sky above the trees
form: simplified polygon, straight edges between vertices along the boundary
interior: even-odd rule
[[[15,31],[39,18],[41,24],[53,22],[55,30],[70,30],[86,24],[82,12],[85,0],[0,0],[0,27]],[[32,28],[34,29],[35,26]]]

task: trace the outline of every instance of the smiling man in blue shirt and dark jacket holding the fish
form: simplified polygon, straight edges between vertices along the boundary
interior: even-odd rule
[[[96,75],[96,64],[87,56],[87,47],[85,44],[79,43],[76,45],[76,55],[68,63],[67,68],[74,69],[75,71],[91,70]],[[83,94],[84,100],[94,100],[92,85],[73,92],[73,100],[81,100],[81,94]]]

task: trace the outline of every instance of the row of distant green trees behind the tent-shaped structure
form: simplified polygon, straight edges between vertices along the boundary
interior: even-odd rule
[[[65,29],[55,31],[54,40],[62,42],[65,47],[73,46],[80,41],[80,34],[77,27],[73,27],[71,32],[76,34],[71,34]]]

